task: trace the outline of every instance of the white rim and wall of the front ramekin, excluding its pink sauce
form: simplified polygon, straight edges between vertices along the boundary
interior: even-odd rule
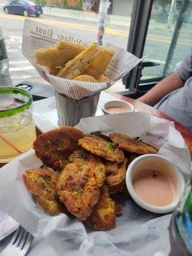
[[[136,172],[139,169],[147,169],[147,168],[152,170],[158,170],[159,172],[162,172],[162,173],[166,173],[166,170],[170,170],[169,172],[175,175],[175,179],[177,183],[177,187],[175,189],[176,195],[170,205],[156,206],[156,205],[148,204],[143,199],[141,199],[140,196],[134,190],[132,186],[132,177],[134,172]],[[184,179],[184,176],[182,175],[180,168],[175,163],[170,161],[168,158],[164,156],[159,156],[157,154],[146,154],[134,159],[134,161],[132,161],[131,164],[129,164],[129,167],[127,168],[125,180],[126,180],[127,189],[132,199],[138,205],[140,205],[140,207],[142,207],[143,209],[150,212],[156,212],[156,213],[168,213],[168,212],[174,211],[179,203],[180,197],[182,196],[182,193],[184,192],[184,189],[186,186],[186,180]]]

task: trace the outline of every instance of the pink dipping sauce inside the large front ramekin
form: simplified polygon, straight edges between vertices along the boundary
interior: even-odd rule
[[[132,185],[138,196],[151,205],[166,206],[175,198],[173,181],[159,171],[139,170]]]

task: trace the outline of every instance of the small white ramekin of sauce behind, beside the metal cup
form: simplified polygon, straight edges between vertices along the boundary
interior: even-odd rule
[[[102,111],[105,115],[134,112],[134,106],[122,100],[111,100],[102,106]]]

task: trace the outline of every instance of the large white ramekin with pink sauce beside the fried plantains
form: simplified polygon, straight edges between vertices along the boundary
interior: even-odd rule
[[[175,210],[186,180],[180,168],[170,159],[146,154],[129,164],[126,185],[132,199],[140,207],[163,214]]]

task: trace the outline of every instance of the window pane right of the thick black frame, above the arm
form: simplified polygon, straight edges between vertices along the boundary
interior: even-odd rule
[[[179,67],[192,46],[191,22],[191,1],[154,1],[143,52],[150,55],[145,61],[153,63],[143,68],[140,81],[167,76]]]

